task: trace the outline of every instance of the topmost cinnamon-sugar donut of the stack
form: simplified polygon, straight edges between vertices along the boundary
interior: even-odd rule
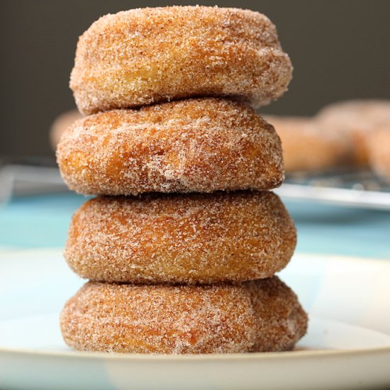
[[[79,38],[70,87],[84,114],[194,96],[256,108],[282,96],[289,56],[261,13],[205,6],[122,11]]]

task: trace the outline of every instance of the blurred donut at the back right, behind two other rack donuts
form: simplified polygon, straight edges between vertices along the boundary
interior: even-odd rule
[[[340,101],[325,106],[316,120],[325,130],[338,130],[348,135],[355,163],[366,166],[369,138],[378,128],[390,126],[390,100]]]

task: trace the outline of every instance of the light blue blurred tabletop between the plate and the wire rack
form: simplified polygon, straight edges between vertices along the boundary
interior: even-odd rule
[[[72,213],[86,198],[72,193],[21,196],[0,206],[0,249],[63,247]],[[285,201],[298,228],[299,252],[390,260],[390,212]]]

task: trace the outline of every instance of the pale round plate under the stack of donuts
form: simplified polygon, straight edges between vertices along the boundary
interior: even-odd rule
[[[0,255],[0,389],[350,389],[390,386],[390,261],[295,255],[280,276],[310,313],[294,352],[72,352],[58,329],[83,283],[61,250]]]

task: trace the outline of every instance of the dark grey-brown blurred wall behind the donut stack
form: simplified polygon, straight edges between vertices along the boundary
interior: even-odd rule
[[[96,18],[172,4],[253,9],[277,25],[294,79],[261,112],[311,115],[331,101],[390,99],[390,1],[1,0],[0,157],[53,154],[50,124],[74,108],[68,79],[77,37]]]

